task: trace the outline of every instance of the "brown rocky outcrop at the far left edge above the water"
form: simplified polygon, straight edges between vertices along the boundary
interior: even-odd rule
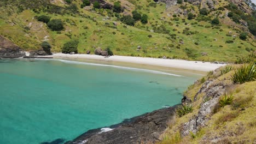
[[[0,35],[0,57],[2,58],[18,58],[26,56],[18,45]]]

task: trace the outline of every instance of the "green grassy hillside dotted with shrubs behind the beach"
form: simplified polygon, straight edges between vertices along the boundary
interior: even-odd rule
[[[113,4],[116,1],[107,2]],[[72,1],[72,4],[77,5],[77,11],[70,10],[71,4],[62,0],[34,4],[13,0],[12,5],[2,4],[0,34],[27,51],[40,49],[42,41],[47,40],[53,46],[53,52],[60,52],[67,41],[78,39],[79,53],[87,50],[93,53],[96,47],[109,47],[114,55],[233,62],[237,57],[256,50],[252,34],[247,40],[239,38],[245,31],[244,27],[224,16],[227,9],[212,11],[203,17],[199,14],[199,7],[190,3],[166,10],[165,3],[156,4],[153,0],[121,1],[125,9],[120,14],[109,9],[94,9],[92,4],[89,8],[80,8],[82,1]],[[226,1],[219,2],[216,9],[227,4]],[[182,5],[193,10],[196,18],[188,20],[182,14],[173,17],[176,13],[173,9]],[[135,26],[129,26],[120,21],[118,15],[131,14],[133,10],[147,14],[148,23],[137,21]],[[65,29],[51,31],[45,23],[34,18],[40,15],[61,19],[65,22]],[[211,25],[216,16],[220,24]],[[209,21],[201,21],[205,19]],[[117,26],[113,22],[117,22]],[[140,50],[137,50],[138,46],[141,46]]]

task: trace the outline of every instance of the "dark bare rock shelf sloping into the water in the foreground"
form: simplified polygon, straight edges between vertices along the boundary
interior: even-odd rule
[[[113,125],[111,131],[100,133],[100,129],[89,130],[87,133],[77,137],[73,141],[66,144],[78,143],[104,143],[104,144],[120,144],[120,143],[142,143],[155,142],[158,140],[161,133],[167,128],[167,123],[174,116],[175,107],[156,110],[145,115],[135,117],[131,122],[123,122],[118,125]]]

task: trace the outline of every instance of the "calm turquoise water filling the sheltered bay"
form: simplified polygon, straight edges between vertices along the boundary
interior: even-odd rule
[[[178,104],[194,80],[79,62],[0,59],[0,143],[72,140]]]

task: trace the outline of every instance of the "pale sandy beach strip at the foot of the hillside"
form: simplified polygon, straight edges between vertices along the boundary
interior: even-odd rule
[[[188,70],[199,70],[199,71],[210,71],[215,70],[225,64],[214,64],[210,62],[199,62],[199,61],[185,61],[182,59],[161,59],[161,58],[147,58],[147,57],[130,57],[130,56],[110,56],[105,58],[98,55],[85,55],[75,54],[69,55],[64,53],[54,53],[51,57],[56,59],[94,59],[101,61],[114,61],[114,62],[127,62],[127,63],[138,63],[147,65],[157,65],[161,67],[179,68]]]

